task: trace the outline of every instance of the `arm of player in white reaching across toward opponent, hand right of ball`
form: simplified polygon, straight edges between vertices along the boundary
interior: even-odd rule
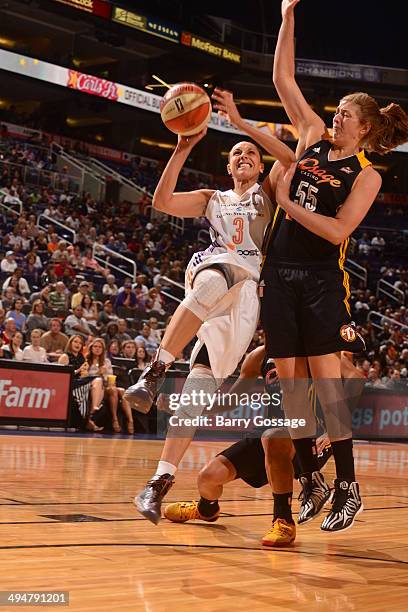
[[[226,117],[238,130],[247,134],[270,155],[276,157],[283,166],[289,166],[289,164],[295,161],[294,152],[286,144],[272,136],[272,134],[267,134],[255,128],[241,117],[230,91],[217,87],[214,89],[212,97],[216,101],[214,108],[218,110],[220,115]]]

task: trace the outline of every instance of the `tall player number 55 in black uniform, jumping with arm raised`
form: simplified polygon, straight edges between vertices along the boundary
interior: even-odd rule
[[[298,2],[282,1],[273,78],[299,132],[298,152],[303,154],[277,184],[279,208],[273,240],[266,246],[261,317],[287,417],[299,417],[307,405],[300,400],[307,363],[316,384],[337,473],[333,507],[321,528],[333,532],[351,527],[363,508],[340,373],[340,351],[364,348],[351,320],[344,271],[347,246],[381,185],[363,149],[384,154],[406,142],[408,117],[396,104],[380,109],[369,95],[351,94],[340,100],[329,140],[323,120],[307,104],[294,78],[293,9]],[[310,426],[303,432],[291,430],[302,467],[299,523],[315,518],[330,495],[313,452],[312,419],[307,422]]]

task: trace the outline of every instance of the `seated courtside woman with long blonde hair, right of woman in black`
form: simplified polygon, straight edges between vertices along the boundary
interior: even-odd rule
[[[110,359],[106,357],[105,343],[102,338],[95,338],[95,340],[89,345],[87,361],[89,364],[89,375],[96,376],[91,386],[90,419],[92,419],[92,415],[99,410],[101,402],[105,396],[112,415],[112,429],[115,433],[120,433],[121,429],[118,421],[118,403],[119,399],[121,399],[122,409],[127,418],[127,431],[128,433],[133,433],[134,426],[132,410],[129,403],[123,399],[125,390],[116,387],[114,384],[109,384],[108,382],[106,387],[104,386],[104,380],[106,380],[108,376],[113,375],[113,369]]]

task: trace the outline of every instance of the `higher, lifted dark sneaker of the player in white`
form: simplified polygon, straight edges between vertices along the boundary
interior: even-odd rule
[[[166,365],[162,361],[153,361],[141,373],[135,385],[126,389],[124,398],[133,410],[147,414],[153,400],[159,392],[166,375]]]

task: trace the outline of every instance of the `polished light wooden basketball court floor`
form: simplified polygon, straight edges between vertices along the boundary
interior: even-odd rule
[[[352,530],[325,534],[317,519],[276,550],[259,543],[268,487],[227,485],[216,523],[143,519],[131,499],[161,442],[7,433],[0,443],[1,591],[69,591],[70,610],[408,609],[406,445],[356,445],[365,511]],[[194,443],[168,501],[196,498],[197,470],[223,447]]]

